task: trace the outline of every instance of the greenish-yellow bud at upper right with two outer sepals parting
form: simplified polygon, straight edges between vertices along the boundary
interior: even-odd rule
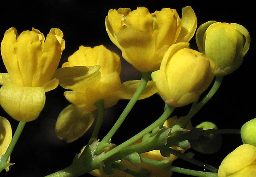
[[[225,76],[236,70],[250,47],[250,34],[236,23],[208,21],[196,32],[200,52],[216,60],[216,75]]]

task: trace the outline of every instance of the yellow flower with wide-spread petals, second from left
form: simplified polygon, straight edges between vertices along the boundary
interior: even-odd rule
[[[59,115],[55,130],[59,138],[72,142],[81,137],[92,125],[95,103],[104,100],[105,108],[114,106],[119,99],[131,99],[140,81],[120,81],[121,62],[114,52],[103,45],[94,48],[80,46],[68,57],[68,62],[57,69],[64,95],[72,103]],[[149,81],[140,99],[157,92],[155,83]]]

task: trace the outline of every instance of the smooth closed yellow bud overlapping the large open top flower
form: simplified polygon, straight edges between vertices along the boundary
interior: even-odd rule
[[[215,75],[214,60],[188,47],[188,42],[172,45],[163,57],[160,70],[151,75],[162,99],[174,107],[196,101]]]

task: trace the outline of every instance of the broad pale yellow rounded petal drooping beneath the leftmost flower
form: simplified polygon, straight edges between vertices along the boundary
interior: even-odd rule
[[[44,108],[45,89],[7,83],[0,89],[0,104],[12,118],[22,122],[32,121]]]

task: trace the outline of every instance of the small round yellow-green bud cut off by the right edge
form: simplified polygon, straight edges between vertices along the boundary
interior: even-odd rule
[[[243,143],[251,144],[256,146],[256,118],[246,122],[241,127],[241,137],[243,140]]]

